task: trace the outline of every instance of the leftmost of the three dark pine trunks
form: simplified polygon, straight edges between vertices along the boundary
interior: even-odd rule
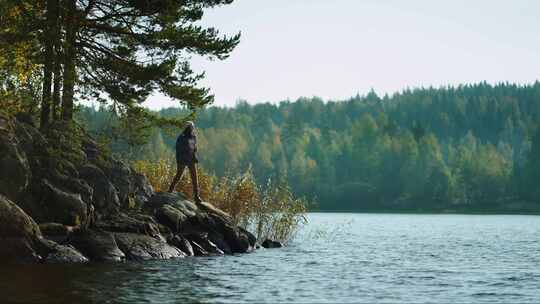
[[[41,96],[41,121],[40,126],[44,128],[48,123],[51,115],[51,84],[52,84],[52,68],[53,62],[51,57],[53,56],[53,26],[54,26],[54,12],[52,10],[52,1],[47,1],[47,22],[45,23],[45,52],[43,53],[43,89]]]

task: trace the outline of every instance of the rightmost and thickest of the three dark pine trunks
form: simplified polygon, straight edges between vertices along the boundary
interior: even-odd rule
[[[76,17],[76,0],[66,0],[65,2],[65,28],[66,39],[64,46],[64,77],[62,95],[62,119],[73,119],[73,96],[75,81],[77,78],[75,71],[75,39],[77,35],[77,17]]]

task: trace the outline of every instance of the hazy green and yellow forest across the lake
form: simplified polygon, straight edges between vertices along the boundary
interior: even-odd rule
[[[171,119],[185,108],[154,113]],[[77,119],[114,153],[172,161],[174,129],[115,135],[105,108]],[[342,101],[206,107],[196,116],[202,166],[217,176],[250,171],[290,185],[312,210],[537,212],[540,83],[487,83],[371,91]],[[140,133],[139,133],[140,135]],[[148,140],[145,145],[130,144]]]

